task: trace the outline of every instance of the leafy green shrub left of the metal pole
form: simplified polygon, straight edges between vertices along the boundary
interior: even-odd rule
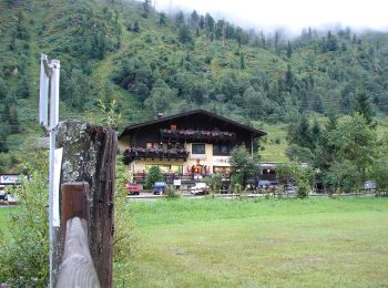
[[[9,233],[0,233],[0,282],[11,287],[45,287],[49,281],[47,160],[47,153],[30,158],[29,179],[14,191],[19,207],[8,222]]]

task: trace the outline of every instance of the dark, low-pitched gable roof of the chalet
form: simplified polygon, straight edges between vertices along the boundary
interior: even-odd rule
[[[266,132],[264,132],[262,130],[256,130],[256,128],[249,127],[249,126],[241,124],[241,123],[238,123],[236,121],[233,121],[233,120],[226,119],[224,116],[219,116],[219,115],[214,114],[212,112],[208,112],[208,111],[200,109],[200,110],[192,110],[192,111],[188,111],[188,112],[183,112],[183,113],[178,113],[178,114],[175,114],[175,115],[170,115],[170,116],[165,116],[165,117],[161,117],[161,119],[151,120],[151,121],[146,121],[146,122],[143,122],[143,123],[130,125],[130,126],[124,128],[124,131],[119,135],[119,138],[124,136],[124,135],[126,135],[126,134],[129,134],[131,131],[140,128],[140,127],[145,127],[145,126],[154,125],[154,124],[161,124],[163,122],[167,122],[167,121],[171,121],[171,120],[176,120],[176,119],[185,117],[185,116],[192,116],[192,115],[206,115],[206,116],[210,116],[210,117],[214,117],[214,119],[227,122],[231,125],[237,126],[241,130],[244,130],[244,131],[247,131],[247,132],[252,133],[254,137],[259,137],[259,136],[264,136],[264,135],[267,134]]]

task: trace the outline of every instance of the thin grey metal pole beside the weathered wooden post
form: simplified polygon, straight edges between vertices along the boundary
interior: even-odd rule
[[[50,89],[50,196],[49,196],[49,225],[50,225],[50,287],[53,287],[53,227],[58,227],[54,222],[53,198],[54,198],[54,152],[55,152],[55,130],[59,121],[59,76],[60,61],[52,60],[51,68],[51,89]]]

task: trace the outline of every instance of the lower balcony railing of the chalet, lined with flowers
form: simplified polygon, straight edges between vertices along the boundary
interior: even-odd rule
[[[127,147],[124,151],[124,164],[130,164],[135,160],[159,158],[159,160],[183,160],[186,161],[188,153],[186,150],[178,148],[144,148],[144,147]]]

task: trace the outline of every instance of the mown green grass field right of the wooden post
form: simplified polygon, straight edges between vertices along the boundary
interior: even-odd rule
[[[124,287],[387,287],[388,198],[131,202]]]

